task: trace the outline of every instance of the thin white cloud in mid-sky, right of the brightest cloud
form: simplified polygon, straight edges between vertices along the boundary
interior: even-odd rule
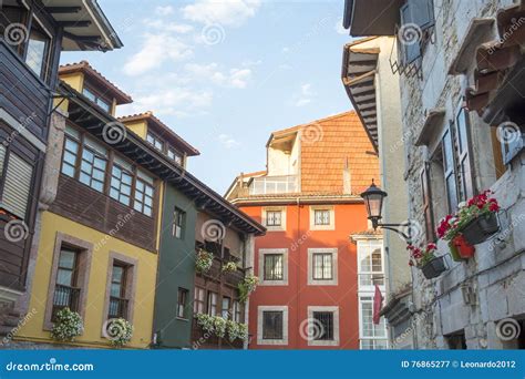
[[[222,71],[217,63],[187,63],[184,69],[194,80],[209,81],[217,85],[235,89],[245,89],[251,80],[250,69],[230,69],[229,71]]]

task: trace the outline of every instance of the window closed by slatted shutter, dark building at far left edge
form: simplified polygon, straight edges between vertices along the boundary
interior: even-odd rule
[[[32,181],[32,164],[13,148],[0,144],[0,184],[3,182],[0,208],[25,218]]]

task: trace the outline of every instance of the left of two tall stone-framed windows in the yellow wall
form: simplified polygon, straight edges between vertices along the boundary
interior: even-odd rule
[[[63,308],[79,310],[80,288],[76,287],[78,252],[62,247],[56,269],[56,284],[53,293],[52,320]]]

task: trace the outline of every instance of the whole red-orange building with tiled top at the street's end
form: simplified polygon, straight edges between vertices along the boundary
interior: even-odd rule
[[[267,170],[234,181],[227,198],[267,228],[255,242],[250,349],[387,346],[384,321],[371,320],[382,240],[359,196],[378,177],[369,136],[346,112],[274,132]]]

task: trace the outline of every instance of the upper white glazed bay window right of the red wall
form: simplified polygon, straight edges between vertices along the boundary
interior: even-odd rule
[[[358,240],[359,290],[373,291],[375,285],[384,290],[383,242],[381,239]]]

